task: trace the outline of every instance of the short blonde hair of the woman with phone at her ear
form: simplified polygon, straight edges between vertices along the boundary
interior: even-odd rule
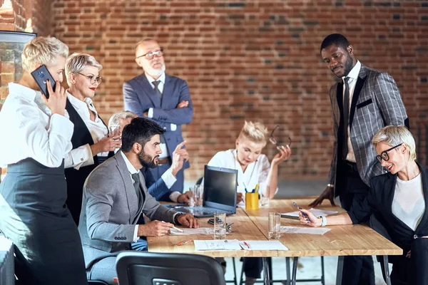
[[[24,71],[31,72],[38,64],[52,66],[56,63],[56,57],[68,56],[68,46],[57,38],[38,36],[26,43],[22,51],[21,61]]]

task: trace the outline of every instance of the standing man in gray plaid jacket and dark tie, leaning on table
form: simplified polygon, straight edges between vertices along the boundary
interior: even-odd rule
[[[330,88],[335,144],[329,183],[310,206],[323,199],[335,204],[334,197],[339,196],[342,207],[349,210],[365,198],[370,179],[384,171],[372,147],[374,133],[386,125],[409,128],[409,120],[392,76],[357,61],[345,36],[327,36],[320,51],[328,68],[342,80]],[[345,257],[342,284],[374,285],[372,257]]]

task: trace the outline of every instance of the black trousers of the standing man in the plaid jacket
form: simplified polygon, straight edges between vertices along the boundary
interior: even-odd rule
[[[349,211],[353,204],[365,199],[370,187],[361,180],[355,164],[342,162],[337,170],[336,189],[340,190],[340,204]],[[343,260],[342,284],[374,285],[372,256],[346,256]]]

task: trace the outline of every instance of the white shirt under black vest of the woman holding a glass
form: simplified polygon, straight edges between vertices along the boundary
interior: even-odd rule
[[[98,117],[98,113],[96,112],[95,107],[93,107],[91,98],[85,98],[85,101],[83,102],[68,93],[68,90],[66,93],[71,105],[76,109],[76,112],[82,118],[83,123],[85,123],[86,128],[88,128],[89,133],[91,133],[93,143],[97,143],[102,138],[105,138],[108,135],[108,129],[106,125],[104,125],[103,121]],[[88,108],[95,113],[95,121],[91,120],[91,114],[89,113]],[[66,117],[70,118],[67,110]],[[100,152],[98,153],[98,156],[106,157],[108,156],[108,152]],[[81,145],[80,147],[71,150],[71,152],[68,152],[65,161],[66,168],[74,167],[74,169],[79,170],[80,167],[86,165],[93,165],[93,155],[89,144]]]

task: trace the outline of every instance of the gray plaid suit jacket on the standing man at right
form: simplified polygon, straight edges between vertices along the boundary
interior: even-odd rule
[[[335,145],[330,167],[329,182],[335,184],[338,158],[337,134],[340,127],[343,101],[343,83],[330,88]],[[372,146],[374,134],[386,125],[406,125],[409,128],[406,108],[394,78],[388,73],[375,71],[361,65],[350,109],[350,140],[355,152],[358,172],[365,184],[383,173],[383,167],[377,162],[376,150]],[[335,193],[337,191],[335,190]]]

